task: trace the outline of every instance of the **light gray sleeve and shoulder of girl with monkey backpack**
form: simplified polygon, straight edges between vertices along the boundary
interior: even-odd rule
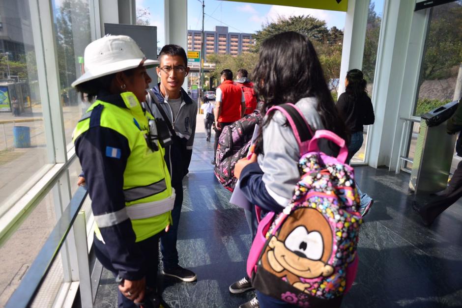
[[[322,129],[322,122],[316,111],[314,99],[302,99],[296,106],[301,110],[312,128]],[[298,144],[290,125],[284,125],[285,116],[277,111],[267,126],[263,128],[263,151],[259,165],[266,190],[281,206],[286,206],[300,179]]]

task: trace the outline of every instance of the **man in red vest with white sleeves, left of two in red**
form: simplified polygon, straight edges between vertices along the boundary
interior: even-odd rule
[[[232,72],[229,69],[221,71],[221,84],[217,87],[215,116],[215,152],[212,165],[215,165],[218,139],[222,129],[240,119],[245,112],[245,98],[241,88],[232,82]]]

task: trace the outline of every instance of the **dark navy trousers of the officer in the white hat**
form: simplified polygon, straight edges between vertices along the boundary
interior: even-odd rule
[[[144,276],[146,278],[146,286],[152,288],[154,291],[156,290],[157,263],[159,260],[159,237],[161,233],[158,233],[148,239],[145,239],[144,241],[135,244],[144,256],[143,268],[146,269],[146,274]],[[114,276],[117,276],[118,271],[111,263],[111,256],[106,249],[106,245],[98,240],[96,236],[93,243],[95,255],[98,260],[106,269],[111,271]],[[138,306],[136,306],[133,301],[126,298],[118,289],[117,293],[117,303],[119,308],[138,308]]]

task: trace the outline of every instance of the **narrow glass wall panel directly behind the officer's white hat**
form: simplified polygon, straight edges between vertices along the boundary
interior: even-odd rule
[[[84,51],[91,42],[89,0],[53,0],[58,49],[59,100],[66,143],[89,107],[71,84],[84,73]]]

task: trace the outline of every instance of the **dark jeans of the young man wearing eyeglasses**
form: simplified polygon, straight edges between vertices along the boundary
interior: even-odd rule
[[[162,252],[162,261],[164,269],[172,269],[178,266],[178,251],[176,250],[176,239],[178,233],[178,223],[180,221],[181,205],[183,204],[183,184],[180,183],[173,187],[175,189],[175,203],[172,210],[173,225],[168,232],[160,238],[160,249]]]

